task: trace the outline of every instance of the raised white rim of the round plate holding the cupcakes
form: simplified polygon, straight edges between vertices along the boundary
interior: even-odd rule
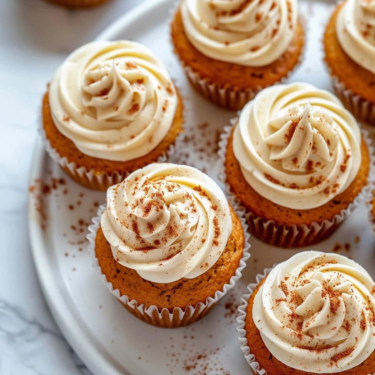
[[[117,34],[124,27],[130,26],[137,20],[142,18],[145,13],[152,12],[166,3],[173,3],[174,0],[145,0],[143,3],[136,5],[130,9],[103,31],[93,40],[113,40],[113,35]],[[48,154],[45,151],[43,142],[39,134],[36,134],[34,140],[33,157],[28,177],[28,186],[33,184],[37,178],[43,176],[43,167]],[[37,191],[40,192],[40,188]],[[27,196],[27,219],[28,219],[28,238],[30,241],[31,255],[36,270],[37,279],[42,290],[43,297],[46,301],[49,311],[54,318],[59,330],[64,338],[74,350],[77,356],[87,366],[87,368],[95,375],[132,375],[136,374],[130,370],[130,367],[138,367],[135,363],[133,366],[126,366],[126,373],[123,372],[124,367],[115,366],[114,363],[105,359],[97,345],[93,344],[87,332],[78,324],[78,320],[74,317],[72,308],[69,308],[63,297],[62,291],[58,286],[49,265],[49,261],[45,257],[45,241],[43,239],[43,229],[40,225],[39,214],[34,208],[33,195],[28,192]],[[120,370],[121,368],[121,370]]]

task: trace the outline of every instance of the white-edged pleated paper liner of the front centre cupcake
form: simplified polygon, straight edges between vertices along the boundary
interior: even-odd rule
[[[100,225],[100,217],[102,212],[105,210],[106,205],[102,204],[99,207],[97,216],[92,219],[93,224],[89,226],[89,234],[87,239],[89,240],[88,251],[92,255],[93,263],[92,267],[96,272],[101,275],[101,280],[103,284],[108,288],[108,290],[117,297],[120,302],[126,307],[126,309],[135,315],[140,320],[145,321],[148,324],[158,327],[175,328],[180,326],[187,326],[188,324],[194,323],[196,320],[204,317],[211,308],[236,284],[237,280],[242,276],[242,270],[246,266],[246,260],[250,257],[249,254],[249,234],[247,231],[246,219],[244,217],[244,211],[238,206],[233,206],[237,216],[239,216],[243,228],[243,233],[245,236],[243,255],[240,260],[239,267],[236,273],[230,278],[229,283],[223,286],[222,290],[216,291],[214,297],[207,297],[205,303],[199,302],[196,306],[188,305],[183,310],[179,307],[173,308],[170,312],[167,308],[162,308],[161,310],[155,305],[145,306],[144,304],[139,304],[136,300],[129,300],[126,295],[120,295],[118,289],[113,288],[111,282],[107,281],[106,276],[102,273],[101,267],[99,266],[98,259],[95,255],[95,238],[96,232],[98,231]]]

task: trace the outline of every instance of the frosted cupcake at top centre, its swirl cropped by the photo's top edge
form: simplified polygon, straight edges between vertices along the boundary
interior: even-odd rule
[[[288,77],[304,44],[297,0],[182,0],[171,37],[195,89],[231,110]]]

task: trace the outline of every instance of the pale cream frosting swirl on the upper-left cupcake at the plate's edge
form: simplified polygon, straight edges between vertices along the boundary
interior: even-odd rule
[[[57,129],[82,153],[141,157],[168,133],[178,97],[151,51],[136,42],[92,42],[75,50],[49,87]]]

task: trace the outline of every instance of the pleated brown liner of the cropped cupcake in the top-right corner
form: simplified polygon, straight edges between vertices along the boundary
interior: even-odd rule
[[[330,70],[330,69],[329,69]],[[347,89],[338,77],[332,77],[332,86],[336,96],[354,117],[365,123],[375,125],[375,103],[363,99],[352,90]]]

